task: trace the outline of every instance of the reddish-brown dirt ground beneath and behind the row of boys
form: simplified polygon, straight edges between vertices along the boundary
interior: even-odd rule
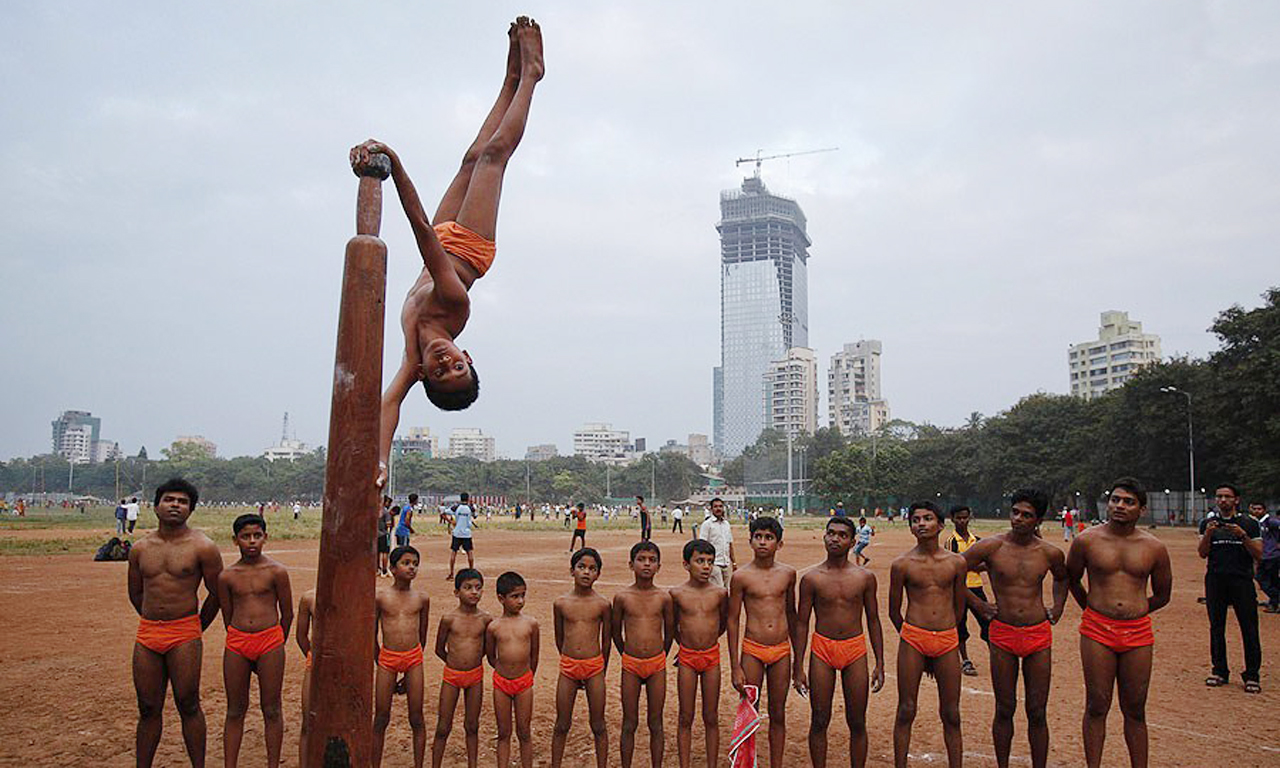
[[[193,524],[198,524],[197,511]],[[996,524],[983,526],[980,532],[996,530]],[[100,531],[105,539],[109,530]],[[50,535],[59,535],[50,531]],[[1169,544],[1174,559],[1172,603],[1156,617],[1156,668],[1148,703],[1151,728],[1151,764],[1158,767],[1204,767],[1225,764],[1231,768],[1280,765],[1280,742],[1275,739],[1280,680],[1270,675],[1271,658],[1263,666],[1262,695],[1247,695],[1239,682],[1242,650],[1234,621],[1229,622],[1228,644],[1233,669],[1231,685],[1221,689],[1204,687],[1208,673],[1208,625],[1204,608],[1196,598],[1202,594],[1203,564],[1196,556],[1196,536],[1189,530],[1160,531]],[[736,531],[740,559],[745,557],[745,536]],[[1046,536],[1059,540],[1061,534],[1055,524],[1046,524]],[[550,760],[550,732],[553,687],[557,675],[557,655],[552,631],[550,604],[556,595],[568,589],[567,556],[570,532],[520,532],[513,530],[480,530],[476,532],[477,567],[490,581],[485,585],[483,607],[498,613],[492,591],[492,579],[498,572],[512,568],[520,571],[530,584],[526,611],[536,616],[543,626],[543,657],[535,694],[535,763],[547,765]],[[658,544],[663,547],[664,568],[659,584],[669,586],[684,580],[678,547],[684,538],[669,531],[658,531]],[[604,575],[598,589],[609,596],[630,582],[626,553],[635,541],[634,532],[593,531],[590,543],[599,548],[604,558]],[[436,617],[452,604],[452,585],[443,579],[447,571],[448,539],[435,534],[419,536],[415,541],[424,552],[424,570],[417,588],[431,596],[431,637]],[[879,577],[881,609],[887,611],[888,563],[908,547],[908,531],[899,526],[879,530],[869,549],[872,568]],[[316,541],[282,541],[279,549],[269,554],[284,562],[293,575],[294,594],[315,585]],[[234,553],[224,550],[224,559],[232,562]],[[780,553],[780,559],[805,568],[822,559],[819,530],[791,530]],[[1083,710],[1083,682],[1079,672],[1079,643],[1076,623],[1079,609],[1070,604],[1066,616],[1055,631],[1056,675],[1050,699],[1051,765],[1082,765],[1080,714]],[[1262,614],[1262,645],[1265,654],[1280,648],[1280,616]],[[870,765],[892,764],[892,717],[896,705],[893,660],[897,637],[883,617],[888,680],[884,690],[872,696],[868,710],[870,736]],[[95,563],[86,554],[67,556],[12,556],[0,557],[0,628],[5,653],[0,655],[0,765],[132,765],[133,728],[136,709],[129,677],[129,658],[137,625],[125,595],[125,564]],[[221,654],[224,631],[216,622],[205,634],[205,667],[202,700],[209,719],[209,764],[221,759],[221,731],[225,696],[221,684]],[[289,640],[288,671],[285,678],[285,764],[297,760],[297,733],[300,713],[300,684],[302,657]],[[961,712],[964,718],[965,763],[968,765],[995,765],[991,742],[991,716],[993,699],[987,675],[987,650],[970,645],[982,675],[964,678]],[[430,654],[429,654],[430,657]],[[620,763],[617,755],[617,723],[621,719],[618,667],[608,671],[611,723],[609,764]],[[436,691],[440,663],[428,660],[426,721],[434,728]],[[669,678],[673,682],[673,677]],[[724,675],[721,700],[722,745],[728,742],[732,708],[736,701]],[[489,687],[488,673],[485,687]],[[922,685],[922,708],[911,742],[913,764],[945,764],[941,727],[933,716],[936,701],[928,680]],[[676,764],[676,694],[669,689],[666,708],[667,762]],[[486,699],[489,696],[486,691]],[[256,694],[251,698],[256,701]],[[384,765],[411,765],[410,730],[404,718],[403,699],[397,699],[393,724],[388,735]],[[494,760],[494,726],[489,701],[481,718],[481,764]],[[847,732],[844,730],[842,705],[836,704],[832,721],[831,759],[833,765],[847,754]],[[1014,737],[1014,764],[1025,765],[1028,750],[1025,721],[1019,713]],[[787,762],[808,764],[805,736],[808,732],[808,704],[791,695],[787,707],[788,740]],[[760,764],[768,763],[762,728]],[[636,739],[636,765],[648,765],[648,735],[641,718]],[[694,727],[694,764],[704,764],[701,755],[701,726]],[[445,764],[465,765],[461,723],[451,739]],[[586,726],[586,705],[579,698],[573,731],[570,735],[566,759],[571,765],[591,764],[591,740]],[[721,755],[716,763],[723,762]],[[250,710],[246,724],[242,765],[256,767],[265,763],[261,717]],[[160,744],[156,765],[186,765],[182,749],[179,721],[172,698],[165,710],[165,732]],[[1119,708],[1114,708],[1108,724],[1106,765],[1128,765]]]

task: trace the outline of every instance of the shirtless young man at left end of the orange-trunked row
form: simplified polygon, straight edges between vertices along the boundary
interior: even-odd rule
[[[165,689],[173,686],[182,740],[193,767],[205,764],[205,713],[200,708],[201,634],[218,616],[223,556],[205,534],[187,527],[200,494],[186,480],[156,488],[159,527],[129,550],[129,603],[138,612],[133,687],[138,696],[137,764],[148,768],[164,727]],[[204,605],[200,582],[205,582]]]

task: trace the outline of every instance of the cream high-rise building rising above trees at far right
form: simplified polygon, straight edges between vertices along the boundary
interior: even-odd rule
[[[1160,362],[1160,337],[1142,333],[1142,323],[1129,320],[1129,312],[1102,312],[1098,338],[1071,344],[1066,361],[1071,372],[1071,394],[1092,399],[1123,387],[1138,369]]]

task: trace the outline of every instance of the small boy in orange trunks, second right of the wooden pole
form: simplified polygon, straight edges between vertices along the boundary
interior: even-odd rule
[[[435,655],[444,662],[440,681],[440,704],[436,708],[435,742],[431,745],[431,768],[440,768],[444,745],[453,730],[453,710],[458,692],[466,691],[462,730],[467,740],[467,768],[476,768],[480,759],[480,707],[484,703],[484,636],[493,617],[480,611],[484,576],[475,568],[462,568],[453,577],[453,594],[458,607],[440,617],[435,630]]]

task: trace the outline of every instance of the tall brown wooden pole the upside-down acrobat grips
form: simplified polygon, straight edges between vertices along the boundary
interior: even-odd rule
[[[374,708],[378,429],[387,246],[378,238],[385,155],[356,166],[356,237],[347,242],[329,410],[324,522],[311,641],[307,765],[365,768]]]

